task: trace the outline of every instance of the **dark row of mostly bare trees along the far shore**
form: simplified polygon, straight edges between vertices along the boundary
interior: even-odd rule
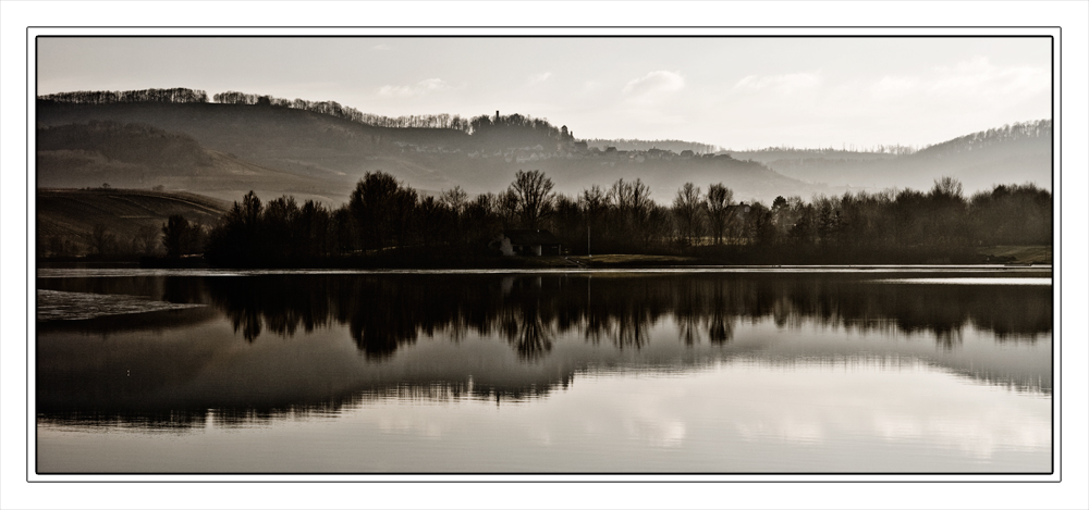
[[[330,209],[254,194],[208,235],[215,265],[326,264],[377,258],[411,264],[498,256],[506,229],[549,229],[570,254],[682,254],[723,263],[981,262],[980,247],[1051,245],[1052,196],[1035,185],[999,185],[965,197],[954,178],[929,191],[778,197],[736,202],[722,183],[682,186],[664,206],[639,179],[553,190],[539,171],[472,199],[460,187],[421,196],[383,172],[359,181]],[[417,257],[417,258],[414,258]],[[419,259],[423,257],[423,259]],[[384,259],[383,259],[384,258]]]

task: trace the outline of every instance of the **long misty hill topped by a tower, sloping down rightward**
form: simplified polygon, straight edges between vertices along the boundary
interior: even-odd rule
[[[375,171],[390,173],[425,194],[454,186],[462,186],[470,194],[498,192],[511,184],[518,170],[541,170],[552,177],[558,191],[571,195],[591,185],[608,187],[619,178],[640,178],[651,187],[652,198],[662,203],[671,201],[676,189],[688,181],[701,187],[722,182],[735,190],[735,197],[745,200],[770,201],[778,195],[834,191],[731,158],[705,160],[676,153],[579,149],[574,140],[563,138],[551,126],[540,126],[535,120],[517,114],[499,117],[502,123],[497,124],[502,125],[480,128],[473,135],[453,128],[371,126],[333,115],[262,104],[39,101],[37,114],[39,129],[112,121],[154,126],[191,138],[210,154],[211,166],[196,167],[191,174],[158,166],[144,181],[130,177],[125,185],[147,186],[154,174],[157,183],[170,189],[207,192],[224,199],[237,199],[245,191],[225,196],[223,189],[234,192],[238,187],[272,183],[264,176],[241,179],[240,175],[272,175],[272,172],[277,173],[279,184],[255,188],[262,197],[283,192],[298,198],[322,195],[327,197],[323,201],[331,206],[343,203],[355,183]],[[107,182],[95,174],[103,163],[77,150],[86,149],[39,146],[41,169],[53,175],[79,173],[84,169],[84,173],[94,177],[78,183],[41,179],[39,186],[99,186]],[[63,161],[53,161],[58,159]],[[78,160],[78,164],[72,165],[72,160]],[[234,167],[231,178],[221,177],[224,183],[219,186],[216,178],[232,170],[227,160],[233,165],[249,166],[245,171]],[[121,173],[124,169],[113,170]],[[206,184],[198,187],[201,178]],[[310,191],[299,194],[299,189]]]

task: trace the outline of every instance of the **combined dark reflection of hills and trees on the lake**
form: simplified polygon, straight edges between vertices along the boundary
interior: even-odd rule
[[[381,399],[501,405],[613,370],[734,362],[784,373],[923,363],[1052,388],[1042,285],[583,273],[39,279],[47,287],[208,304],[38,323],[37,410],[57,422],[170,428],[199,426],[209,410],[230,424]]]

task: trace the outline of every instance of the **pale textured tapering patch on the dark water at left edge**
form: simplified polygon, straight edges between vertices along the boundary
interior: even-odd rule
[[[65,293],[38,289],[38,321],[79,321],[105,315],[158,312],[204,307],[155,301],[142,296]]]

